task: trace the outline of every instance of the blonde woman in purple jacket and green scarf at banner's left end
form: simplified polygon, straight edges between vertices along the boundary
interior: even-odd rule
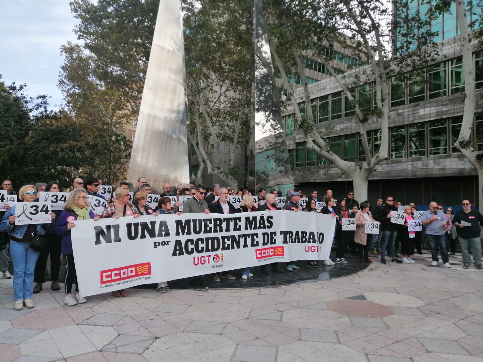
[[[75,306],[78,303],[86,302],[85,298],[79,295],[79,283],[77,282],[74,254],[72,251],[71,228],[75,226],[74,221],[89,219],[99,220],[99,217],[94,217],[94,213],[90,210],[90,205],[87,202],[87,192],[84,189],[74,189],[54,227],[54,233],[62,237],[61,251],[67,259],[64,303],[68,306]],[[74,280],[75,294],[72,296],[72,283]]]

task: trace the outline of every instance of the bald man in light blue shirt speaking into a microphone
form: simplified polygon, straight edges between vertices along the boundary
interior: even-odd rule
[[[441,259],[443,265],[447,268],[451,268],[448,258],[448,249],[446,248],[446,235],[444,234],[444,228],[447,226],[446,217],[441,210],[438,210],[438,204],[431,202],[429,204],[429,210],[425,211],[421,220],[422,224],[426,226],[426,238],[431,248],[431,256],[433,262],[431,265],[438,265],[438,246],[441,250]]]

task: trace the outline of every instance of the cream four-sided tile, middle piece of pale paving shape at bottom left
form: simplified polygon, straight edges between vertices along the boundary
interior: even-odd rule
[[[64,358],[97,350],[77,325],[50,329],[49,333]]]

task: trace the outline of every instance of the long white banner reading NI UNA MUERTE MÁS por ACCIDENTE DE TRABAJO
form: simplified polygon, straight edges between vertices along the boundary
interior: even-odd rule
[[[75,221],[83,296],[293,260],[327,260],[335,219],[313,212],[147,215]]]

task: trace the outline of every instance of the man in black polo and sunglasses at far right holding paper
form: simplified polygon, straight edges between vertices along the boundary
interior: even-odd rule
[[[471,209],[469,200],[463,200],[463,209],[456,212],[453,223],[456,226],[459,244],[461,245],[461,256],[463,257],[463,269],[471,265],[469,249],[473,253],[473,264],[477,270],[483,271],[482,247],[480,242],[480,231],[483,229],[483,216],[476,210]]]

